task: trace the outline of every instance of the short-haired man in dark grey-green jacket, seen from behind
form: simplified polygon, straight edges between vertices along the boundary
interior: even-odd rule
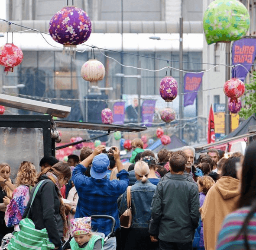
[[[150,238],[152,242],[159,238],[160,250],[192,250],[200,217],[198,187],[184,176],[183,156],[174,154],[169,163],[172,174],[159,182],[152,199]]]

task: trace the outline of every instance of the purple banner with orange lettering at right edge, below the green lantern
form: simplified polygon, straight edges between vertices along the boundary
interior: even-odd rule
[[[244,81],[254,62],[256,55],[256,38],[242,38],[234,41],[232,48],[232,64],[241,64],[234,69],[234,76]]]

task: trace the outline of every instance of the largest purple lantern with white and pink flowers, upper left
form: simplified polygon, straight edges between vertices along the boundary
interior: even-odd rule
[[[65,6],[50,20],[49,33],[54,41],[75,49],[90,37],[91,20],[83,9]]]

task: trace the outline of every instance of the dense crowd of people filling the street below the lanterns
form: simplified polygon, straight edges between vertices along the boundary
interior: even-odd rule
[[[68,162],[45,156],[39,173],[23,161],[14,181],[11,166],[1,163],[0,250],[24,218],[46,229],[55,250],[64,242],[71,250],[256,248],[256,142],[245,155],[211,148],[198,159],[191,146],[155,154],[138,138],[132,148],[125,164],[117,147],[103,145],[83,147]],[[124,228],[128,198],[132,220]],[[92,215],[112,216],[114,234],[109,218]]]

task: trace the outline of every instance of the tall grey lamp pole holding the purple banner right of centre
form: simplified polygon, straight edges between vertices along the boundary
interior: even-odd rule
[[[180,18],[180,51],[179,51],[179,60],[180,60],[180,70],[183,70],[183,18]],[[183,72],[179,72],[179,115],[180,115],[180,122],[179,122],[179,138],[182,140],[183,139],[183,95],[181,93],[183,92]]]

